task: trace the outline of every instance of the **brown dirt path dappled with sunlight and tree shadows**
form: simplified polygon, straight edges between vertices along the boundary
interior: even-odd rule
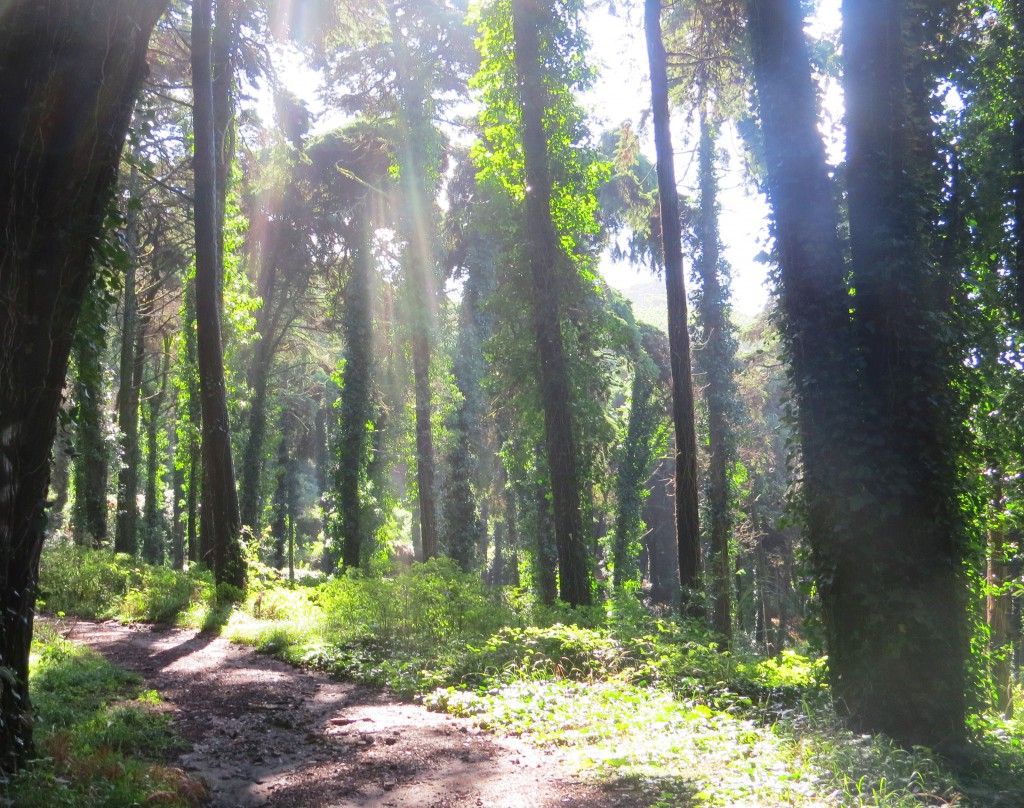
[[[191,745],[214,808],[612,808],[557,753],[195,631],[80,622],[70,638],[141,674]]]

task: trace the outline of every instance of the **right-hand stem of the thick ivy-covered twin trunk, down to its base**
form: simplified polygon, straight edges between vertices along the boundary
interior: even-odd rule
[[[956,275],[943,277],[925,244],[935,188],[920,16],[903,0],[843,4],[854,322],[870,414],[862,490],[873,502],[842,548],[829,662],[856,728],[954,746],[968,646],[950,377],[961,358],[944,336]]]

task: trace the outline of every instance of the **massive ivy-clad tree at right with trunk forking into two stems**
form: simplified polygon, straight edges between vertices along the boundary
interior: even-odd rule
[[[844,6],[848,266],[800,3],[752,0],[748,11],[833,695],[858,731],[954,747],[966,652],[958,408],[952,284],[924,249],[927,27],[898,0]]]

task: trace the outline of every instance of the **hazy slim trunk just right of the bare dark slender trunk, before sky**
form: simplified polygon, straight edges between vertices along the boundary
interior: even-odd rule
[[[702,95],[702,93],[701,93]],[[723,266],[718,226],[718,179],[715,177],[716,127],[709,120],[707,101],[701,98],[700,142],[697,148],[697,181],[700,208],[695,230],[699,245],[696,273],[700,295],[696,304],[697,334],[700,349],[696,352],[697,370],[705,378],[705,401],[708,407],[708,515],[711,521],[712,627],[728,647],[732,642],[732,558],[729,537],[732,533],[732,492],[729,467],[735,458],[732,430],[733,411],[738,406],[733,375],[736,367],[736,343],[728,316],[728,289],[722,285]],[[727,275],[726,275],[727,277]]]

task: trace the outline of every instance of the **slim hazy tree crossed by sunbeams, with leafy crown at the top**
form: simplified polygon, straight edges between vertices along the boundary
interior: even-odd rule
[[[434,118],[464,96],[472,61],[469,30],[465,6],[455,0],[346,0],[336,14],[341,25],[325,37],[334,95],[348,111],[388,118],[396,129],[396,224],[406,242],[401,293],[413,359],[421,555],[427,559],[439,552],[431,356],[441,302],[435,242],[443,137]]]

